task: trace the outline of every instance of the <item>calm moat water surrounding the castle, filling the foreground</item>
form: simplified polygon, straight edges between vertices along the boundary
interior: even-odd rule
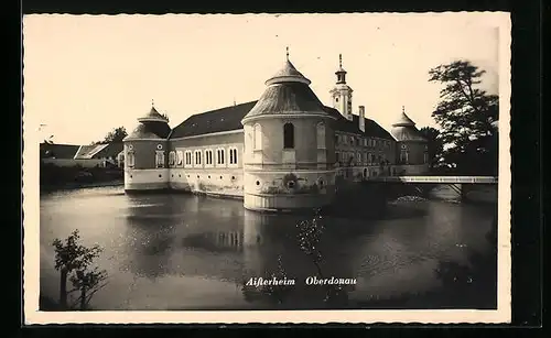
[[[356,280],[346,288],[347,301],[331,306],[495,307],[493,297],[482,296],[496,292],[495,281],[483,277],[494,274],[477,272],[495,266],[474,266],[493,260],[487,233],[495,208],[422,201],[390,208],[376,220],[322,218],[323,275]],[[258,214],[245,210],[241,200],[185,194],[129,196],[122,187],[43,194],[40,211],[40,288],[50,299],[58,299],[60,283],[52,241],[78,229],[83,243],[104,248],[96,263],[107,271],[108,284],[94,295],[93,309],[324,308],[331,303],[324,287],[304,284],[318,272],[296,240],[295,225],[306,216]],[[281,269],[296,282],[284,297],[244,287],[250,277]],[[471,301],[461,294],[467,288]]]

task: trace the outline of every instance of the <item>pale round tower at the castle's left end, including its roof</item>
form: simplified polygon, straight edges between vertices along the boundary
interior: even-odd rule
[[[169,188],[168,137],[165,117],[154,105],[138,127],[125,138],[125,190],[161,190]]]

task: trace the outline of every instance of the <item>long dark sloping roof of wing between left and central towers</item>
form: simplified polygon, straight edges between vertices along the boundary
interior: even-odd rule
[[[171,139],[242,129],[241,120],[257,101],[245,102],[196,113],[175,127]]]

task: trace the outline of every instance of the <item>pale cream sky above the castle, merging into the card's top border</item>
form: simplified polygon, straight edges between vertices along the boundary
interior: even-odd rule
[[[257,100],[287,46],[325,105],[342,54],[355,113],[365,106],[388,130],[404,106],[418,128],[437,127],[442,85],[430,68],[468,59],[498,94],[499,20],[488,14],[26,15],[25,132],[89,144],[119,126],[131,132],[152,101],[175,127]]]

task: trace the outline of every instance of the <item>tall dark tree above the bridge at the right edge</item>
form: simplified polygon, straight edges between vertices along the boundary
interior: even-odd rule
[[[456,61],[429,70],[430,81],[441,83],[441,101],[432,117],[441,126],[443,160],[460,174],[497,173],[499,98],[478,88],[485,70],[468,61]]]

